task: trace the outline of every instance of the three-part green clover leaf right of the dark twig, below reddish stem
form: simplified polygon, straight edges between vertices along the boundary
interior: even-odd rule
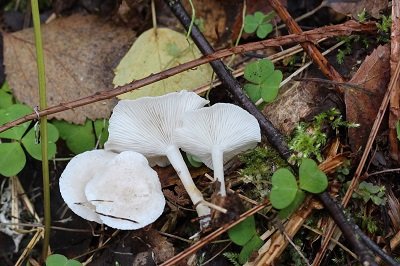
[[[247,64],[244,78],[249,81],[244,85],[244,90],[251,101],[262,98],[265,102],[272,102],[278,95],[283,75],[281,71],[274,70],[270,60],[261,59]]]

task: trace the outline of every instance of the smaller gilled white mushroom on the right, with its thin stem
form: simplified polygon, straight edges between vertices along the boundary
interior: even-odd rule
[[[225,196],[224,163],[261,141],[257,119],[227,103],[187,112],[182,119],[182,127],[175,131],[175,142],[214,169],[214,178],[221,185],[219,193]]]

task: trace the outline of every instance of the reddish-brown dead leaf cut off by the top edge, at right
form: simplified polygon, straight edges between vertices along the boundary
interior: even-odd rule
[[[388,5],[387,0],[327,0],[326,6],[331,7],[338,13],[345,15],[351,14],[353,17],[357,17],[365,11],[373,16],[374,18],[379,17],[379,11],[386,8]]]

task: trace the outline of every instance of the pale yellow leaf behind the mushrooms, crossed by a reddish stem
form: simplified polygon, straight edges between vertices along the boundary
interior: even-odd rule
[[[122,86],[200,56],[200,51],[193,43],[189,45],[185,35],[167,28],[150,29],[137,38],[122,58],[115,69],[113,83],[115,86]],[[143,96],[164,95],[173,91],[190,91],[209,83],[211,74],[211,67],[202,65],[122,94],[119,98],[137,99]]]

